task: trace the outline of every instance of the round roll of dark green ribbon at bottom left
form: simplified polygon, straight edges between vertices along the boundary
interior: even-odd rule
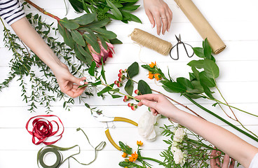
[[[56,162],[50,166],[46,165],[44,162],[44,156],[48,153],[54,153],[57,158]],[[60,165],[61,162],[62,162],[62,157],[55,148],[45,148],[41,151],[41,153],[39,153],[39,163],[43,168],[56,168]]]

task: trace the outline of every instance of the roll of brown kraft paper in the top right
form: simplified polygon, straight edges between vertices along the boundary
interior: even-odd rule
[[[215,30],[210,26],[208,21],[204,18],[200,10],[191,0],[175,0],[177,6],[181,8],[184,12],[184,15],[189,19],[191,24],[194,25],[198,33],[202,36],[203,40],[208,39],[212,52],[218,54],[222,52],[226,45],[221,38],[217,35]]]

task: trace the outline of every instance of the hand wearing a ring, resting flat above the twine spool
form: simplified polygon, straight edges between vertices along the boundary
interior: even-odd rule
[[[172,11],[168,7],[168,4],[163,0],[144,0],[145,13],[151,22],[152,28],[157,27],[157,34],[165,34],[165,31],[169,31],[172,21]],[[155,20],[154,20],[155,19]],[[162,22],[162,24],[161,24]]]

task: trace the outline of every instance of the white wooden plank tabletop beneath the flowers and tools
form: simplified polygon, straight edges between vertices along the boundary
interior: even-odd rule
[[[191,25],[189,20],[184,16],[184,13],[177,7],[175,1],[166,1],[173,12],[172,27],[170,32],[166,33],[165,36],[161,35],[166,41],[170,41],[173,45],[176,43],[175,34],[181,34],[182,41],[190,43],[194,47],[200,47],[202,38]],[[34,3],[45,8],[50,13],[57,15],[60,18],[64,18],[65,8],[62,0],[45,0],[36,1]],[[169,67],[172,76],[185,76],[188,78],[188,72],[190,71],[189,66],[186,64],[191,59],[198,59],[196,56],[193,58],[188,58],[186,55],[182,54],[179,60],[174,61],[170,59],[169,56],[163,56],[149,50],[148,48],[140,48],[139,45],[133,43],[133,41],[128,37],[128,35],[133,31],[134,28],[144,29],[151,34],[156,35],[156,29],[151,29],[151,24],[144,13],[143,2],[139,2],[141,7],[134,13],[142,20],[142,25],[130,22],[128,25],[122,22],[114,21],[107,27],[108,29],[114,31],[118,38],[123,41],[122,45],[116,45],[115,51],[116,55],[113,58],[108,59],[105,66],[107,79],[109,83],[116,80],[119,69],[125,69],[133,62],[157,62],[158,66],[163,67],[164,72]],[[217,34],[222,38],[224,43],[226,43],[226,50],[221,52],[219,55],[215,55],[217,59],[217,64],[220,69],[220,76],[217,79],[217,85],[224,93],[224,97],[233,106],[237,106],[240,109],[245,109],[251,113],[257,114],[258,109],[258,1],[255,0],[194,0],[196,6],[201,10],[205,18],[212,25],[212,27],[217,31]],[[34,8],[26,9],[26,13],[38,13]],[[74,13],[74,10],[69,6],[69,13],[67,18],[75,18],[78,14]],[[47,21],[53,21],[51,18],[43,15]],[[3,26],[0,26],[3,29]],[[0,34],[1,39],[3,39],[3,34]],[[4,48],[4,43],[0,42],[0,82],[6,78],[8,74],[8,61],[11,59],[12,53]],[[184,53],[181,50],[181,53]],[[147,78],[147,71],[140,69],[140,75],[138,75],[137,80],[144,79],[151,85],[151,87],[162,90],[158,87],[153,80]],[[22,97],[20,97],[21,88],[16,80],[13,80],[10,87],[0,92],[0,167],[37,167],[36,165],[36,153],[43,144],[35,146],[32,144],[32,137],[25,129],[25,124],[27,120],[32,116],[42,115],[44,113],[43,107],[39,107],[36,113],[29,113],[27,111],[28,106],[25,102],[22,102]],[[163,90],[162,90],[163,91]],[[164,92],[164,91],[163,91]],[[249,139],[243,134],[236,132],[231,129],[231,127],[225,125],[221,121],[217,120],[213,116],[210,116],[205,111],[201,111],[196,108],[191,102],[186,100],[184,97],[179,97],[179,94],[169,94],[171,97],[176,99],[178,102],[189,106],[194,111],[197,111],[201,116],[210,120],[217,125],[221,125],[226,129],[236,133],[239,137],[245,139],[245,141],[258,147],[257,142]],[[219,96],[217,94],[217,96]],[[212,109],[215,113],[226,118],[226,116],[217,108],[212,107],[212,102],[198,99],[198,103],[203,106]],[[123,99],[111,99],[107,97],[102,100],[99,97],[93,97],[88,99],[88,104],[90,106],[97,106],[98,109],[102,109],[104,114],[107,116],[121,116],[125,118],[130,118],[131,120],[137,121],[142,113],[147,109],[142,107],[137,109],[137,111],[132,111],[128,108],[127,104],[123,102]],[[81,146],[81,155],[77,158],[81,162],[89,162],[93,159],[93,150],[86,142],[86,138],[81,132],[76,132],[77,127],[81,127],[85,130],[93,146],[96,146],[100,141],[107,141],[107,146],[103,151],[100,151],[97,156],[97,160],[88,167],[119,167],[118,162],[122,161],[121,152],[117,151],[104,134],[104,128],[100,123],[90,116],[90,111],[79,104],[79,100],[75,99],[75,104],[72,106],[71,111],[65,111],[62,108],[62,103],[57,102],[52,104],[53,115],[60,117],[64,123],[64,134],[60,141],[55,145],[62,147],[74,146],[79,144]],[[181,107],[179,107],[181,108]],[[247,116],[243,113],[236,111],[236,115],[244,125],[252,130],[254,133],[258,134],[258,119],[254,117]],[[167,120],[161,120],[159,125],[167,123]],[[231,121],[233,123],[233,121]],[[236,123],[234,123],[236,124]],[[136,149],[136,141],[142,140],[140,135],[137,133],[137,128],[133,125],[126,123],[115,123],[116,128],[110,129],[111,135],[114,141],[123,141],[129,146]],[[237,125],[237,124],[236,124]],[[238,125],[239,126],[239,125]],[[162,158],[159,153],[163,149],[167,148],[167,145],[163,143],[163,137],[158,137],[154,142],[144,141],[144,149],[142,154],[147,157]],[[244,150],[244,149],[243,149]],[[64,157],[73,153],[74,151],[69,151],[64,153]],[[76,162],[70,162],[71,167],[82,167]],[[154,164],[155,163],[152,163]],[[67,164],[62,165],[62,167],[67,167]],[[155,165],[154,167],[159,167]]]

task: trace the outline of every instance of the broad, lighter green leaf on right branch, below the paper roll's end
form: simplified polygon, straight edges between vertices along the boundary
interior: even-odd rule
[[[219,77],[219,67],[215,62],[213,62],[210,59],[205,59],[203,63],[204,63],[203,69],[208,77],[214,78],[214,79]]]

